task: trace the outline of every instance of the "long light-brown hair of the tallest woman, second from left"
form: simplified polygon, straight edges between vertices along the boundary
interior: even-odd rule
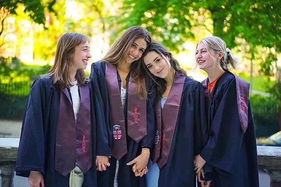
[[[131,26],[127,28],[109,47],[109,50],[102,58],[102,60],[117,65],[118,63],[126,60],[128,51],[134,42],[138,38],[144,38],[147,45],[151,43],[150,32],[141,26]],[[135,91],[138,98],[146,98],[147,89],[144,77],[139,78],[139,72],[136,71],[138,61],[134,61],[130,67],[130,76],[132,81],[135,82]]]

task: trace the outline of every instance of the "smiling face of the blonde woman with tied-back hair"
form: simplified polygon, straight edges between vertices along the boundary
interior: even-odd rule
[[[200,69],[208,71],[211,68],[219,68],[218,60],[221,58],[219,53],[207,48],[203,42],[199,42],[196,48],[196,62]]]

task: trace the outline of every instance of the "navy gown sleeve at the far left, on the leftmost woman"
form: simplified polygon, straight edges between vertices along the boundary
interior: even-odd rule
[[[29,177],[30,171],[40,171],[44,176],[44,128],[43,104],[46,86],[42,79],[32,84],[23,118],[18,158],[17,175]]]

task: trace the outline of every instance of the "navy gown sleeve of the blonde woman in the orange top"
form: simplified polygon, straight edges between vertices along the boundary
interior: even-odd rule
[[[242,144],[243,131],[238,116],[235,79],[224,86],[221,100],[214,99],[214,105],[218,103],[215,106],[217,110],[201,156],[208,164],[232,173],[236,153]]]

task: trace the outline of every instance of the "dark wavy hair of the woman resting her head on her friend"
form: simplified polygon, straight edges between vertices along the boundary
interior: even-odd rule
[[[187,76],[186,71],[180,66],[180,63],[177,59],[173,57],[173,54],[171,51],[169,51],[165,46],[163,46],[161,43],[158,42],[151,42],[151,44],[146,48],[145,52],[143,53],[140,63],[137,65],[137,71],[140,72],[140,74],[146,74],[148,73],[149,76],[154,80],[154,82],[157,84],[157,97],[161,97],[161,95],[164,93],[164,91],[167,88],[167,82],[164,78],[160,78],[152,74],[144,62],[144,57],[150,52],[155,51],[159,55],[161,55],[163,58],[164,56],[168,57],[171,68],[173,68],[176,71],[179,71],[180,73]]]

